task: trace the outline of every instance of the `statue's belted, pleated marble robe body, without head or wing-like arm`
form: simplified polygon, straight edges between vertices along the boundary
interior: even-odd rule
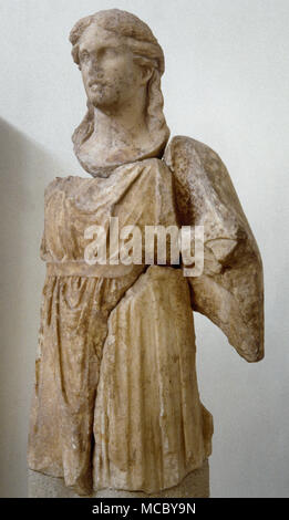
[[[79,493],[92,485],[165,489],[210,455],[189,288],[182,269],[169,267],[169,249],[166,267],[132,266],[124,274],[116,266],[114,278],[83,261],[84,230],[106,229],[111,216],[120,228],[177,225],[172,180],[162,160],[145,159],[109,178],[59,178],[45,191],[49,269],[29,466],[64,476]]]

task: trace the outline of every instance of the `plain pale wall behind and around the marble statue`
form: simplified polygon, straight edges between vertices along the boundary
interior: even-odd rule
[[[1,0],[0,496],[27,495],[44,187],[86,176],[71,144],[85,96],[68,34],[79,18],[115,7],[158,38],[172,135],[220,155],[264,258],[261,363],[247,364],[196,315],[200,395],[215,419],[211,496],[288,497],[288,0]]]

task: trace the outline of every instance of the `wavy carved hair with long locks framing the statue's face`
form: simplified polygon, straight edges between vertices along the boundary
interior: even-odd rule
[[[135,60],[141,65],[151,65],[153,67],[153,74],[147,89],[146,119],[148,129],[151,127],[154,128],[154,133],[163,137],[165,147],[169,137],[169,129],[163,113],[164,98],[161,91],[161,76],[165,70],[163,49],[146,23],[130,12],[110,9],[82,18],[73,27],[70,33],[70,41],[73,45],[72,56],[78,65],[80,65],[80,40],[91,23],[96,23],[102,29],[117,34],[131,49]],[[94,111],[93,105],[87,100],[87,112],[72,135],[76,153],[82,143],[91,136],[93,129]]]

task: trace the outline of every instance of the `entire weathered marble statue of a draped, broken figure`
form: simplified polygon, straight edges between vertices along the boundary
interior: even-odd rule
[[[74,152],[92,178],[56,177],[45,190],[29,468],[79,496],[173,496],[188,482],[183,496],[194,497],[213,418],[198,394],[192,310],[245,360],[261,360],[260,254],[218,155],[169,141],[164,54],[149,28],[112,9],[81,19],[70,41],[87,97]],[[184,275],[168,253],[148,264],[143,250],[138,263],[89,264],[85,230],[102,226],[109,238],[112,218],[142,233],[203,226],[203,272]]]

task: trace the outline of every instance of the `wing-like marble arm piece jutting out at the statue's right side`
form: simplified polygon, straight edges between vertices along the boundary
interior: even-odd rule
[[[164,159],[180,225],[204,226],[204,271],[188,278],[192,306],[248,362],[264,357],[264,282],[258,246],[229,174],[206,145],[177,136]]]

